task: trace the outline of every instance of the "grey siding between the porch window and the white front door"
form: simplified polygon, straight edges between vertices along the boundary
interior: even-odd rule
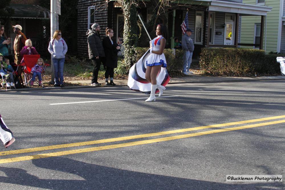
[[[215,34],[214,43],[224,44],[224,29],[222,26],[225,24],[225,13],[215,12]],[[216,35],[216,32],[222,32],[222,35]]]

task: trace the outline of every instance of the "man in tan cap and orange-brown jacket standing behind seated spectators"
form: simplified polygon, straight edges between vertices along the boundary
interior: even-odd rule
[[[25,36],[25,34],[23,34],[22,32],[23,28],[21,25],[17,24],[13,26],[13,28],[14,28],[14,33],[17,34],[14,40],[15,64],[19,65],[21,64],[21,61],[23,59],[23,56],[21,56],[21,50],[25,46],[27,37]],[[22,66],[19,66],[18,73],[19,73],[19,76],[21,76]]]

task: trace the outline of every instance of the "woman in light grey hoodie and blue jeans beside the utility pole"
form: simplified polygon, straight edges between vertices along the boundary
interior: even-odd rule
[[[48,46],[48,51],[52,55],[52,62],[54,64],[54,87],[64,87],[63,68],[67,45],[61,35],[61,31],[56,30],[54,32],[53,39],[50,40],[50,44]]]

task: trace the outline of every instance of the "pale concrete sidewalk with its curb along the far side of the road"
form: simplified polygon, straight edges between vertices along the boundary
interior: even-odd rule
[[[214,83],[214,82],[237,82],[237,81],[264,81],[264,80],[285,80],[285,76],[264,76],[264,77],[207,77],[190,74],[185,77],[172,78],[168,84],[179,84],[179,83]],[[72,88],[94,88],[91,86],[90,80],[78,80],[78,81],[67,81],[68,83],[75,84],[76,86],[66,86],[63,89],[72,89]],[[101,86],[97,87],[111,87],[105,85],[105,81],[99,80]],[[114,80],[116,86],[127,86],[127,80]],[[21,88],[21,89],[11,89],[8,91],[28,91],[28,90],[48,90],[48,89],[62,89],[61,87],[44,87],[44,88]],[[1,90],[6,91],[6,90]]]

